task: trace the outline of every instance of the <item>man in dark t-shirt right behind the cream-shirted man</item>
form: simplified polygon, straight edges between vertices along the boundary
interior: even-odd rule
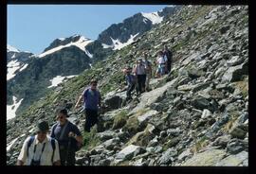
[[[76,125],[68,121],[65,108],[58,108],[56,115],[58,122],[52,126],[50,136],[59,143],[61,164],[75,165],[76,151],[82,147],[82,134]]]

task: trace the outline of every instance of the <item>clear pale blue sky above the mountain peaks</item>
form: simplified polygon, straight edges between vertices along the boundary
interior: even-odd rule
[[[8,43],[39,54],[57,38],[81,34],[92,40],[108,26],[163,5],[9,5]]]

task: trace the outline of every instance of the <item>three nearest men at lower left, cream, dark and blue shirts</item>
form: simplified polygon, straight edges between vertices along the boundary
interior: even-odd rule
[[[101,93],[97,89],[96,79],[92,79],[90,87],[82,92],[75,108],[79,107],[82,99],[84,131],[89,132],[98,122],[98,111],[101,107]],[[67,119],[66,108],[58,107],[55,116],[58,122],[51,129],[47,121],[39,121],[36,134],[25,140],[17,165],[75,165],[76,151],[82,148],[82,133]]]

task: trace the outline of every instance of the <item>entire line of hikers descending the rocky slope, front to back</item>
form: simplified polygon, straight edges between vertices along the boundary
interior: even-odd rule
[[[155,61],[157,64],[156,78],[171,71],[172,52],[165,46],[164,51],[158,52]],[[126,67],[125,73],[127,99],[132,99],[131,93],[137,88],[137,96],[150,91],[149,83],[152,78],[152,63],[148,61],[148,54],[144,52],[144,61],[137,60],[131,68]],[[101,93],[97,89],[97,80],[92,79],[90,86],[86,87],[79,96],[75,109],[78,109],[83,100],[85,114],[84,132],[89,132],[98,123],[99,109],[101,107]],[[28,136],[18,156],[17,165],[75,165],[75,154],[82,148],[82,133],[67,117],[65,107],[59,107],[54,114],[57,123],[49,129],[46,120],[39,121],[35,135]]]

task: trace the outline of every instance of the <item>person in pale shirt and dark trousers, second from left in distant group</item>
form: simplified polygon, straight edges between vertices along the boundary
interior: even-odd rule
[[[137,96],[145,92],[146,86],[146,69],[142,59],[137,60],[137,64],[133,70],[137,77]]]

